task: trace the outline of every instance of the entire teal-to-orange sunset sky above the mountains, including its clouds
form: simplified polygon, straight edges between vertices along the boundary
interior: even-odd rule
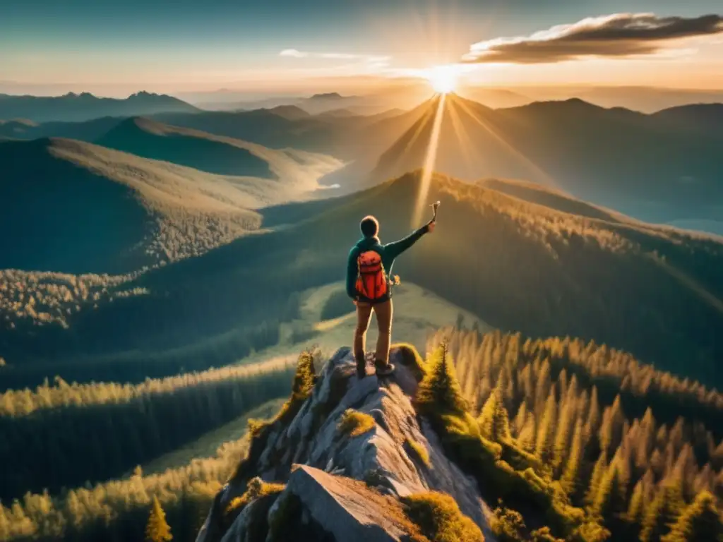
[[[719,0],[2,0],[0,92],[723,88]]]

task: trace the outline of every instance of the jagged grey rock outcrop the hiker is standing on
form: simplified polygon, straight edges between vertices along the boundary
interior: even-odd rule
[[[422,375],[416,353],[395,348],[391,359],[396,371],[390,377],[358,379],[350,350],[338,350],[296,412],[287,410],[257,434],[197,542],[414,540],[399,499],[427,491],[452,496],[484,538],[494,540],[476,482],[445,457],[414,410]],[[251,476],[286,488],[246,503]],[[244,507],[234,517],[228,509],[239,497]]]

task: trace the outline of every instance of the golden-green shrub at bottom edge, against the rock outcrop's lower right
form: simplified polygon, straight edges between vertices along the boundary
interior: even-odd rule
[[[482,542],[479,527],[447,494],[429,491],[401,498],[409,519],[434,542]]]

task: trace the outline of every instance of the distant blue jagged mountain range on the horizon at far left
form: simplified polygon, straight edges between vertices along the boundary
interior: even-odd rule
[[[140,92],[123,100],[97,98],[90,93],[63,96],[12,96],[0,94],[0,119],[35,122],[88,121],[103,116],[137,116],[155,113],[194,113],[189,103],[168,95]]]

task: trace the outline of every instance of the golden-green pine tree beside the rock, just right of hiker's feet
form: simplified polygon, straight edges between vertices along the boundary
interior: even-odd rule
[[[457,416],[466,413],[467,403],[457,381],[447,343],[442,343],[432,353],[427,366],[430,369],[416,391],[416,404],[422,412]]]

